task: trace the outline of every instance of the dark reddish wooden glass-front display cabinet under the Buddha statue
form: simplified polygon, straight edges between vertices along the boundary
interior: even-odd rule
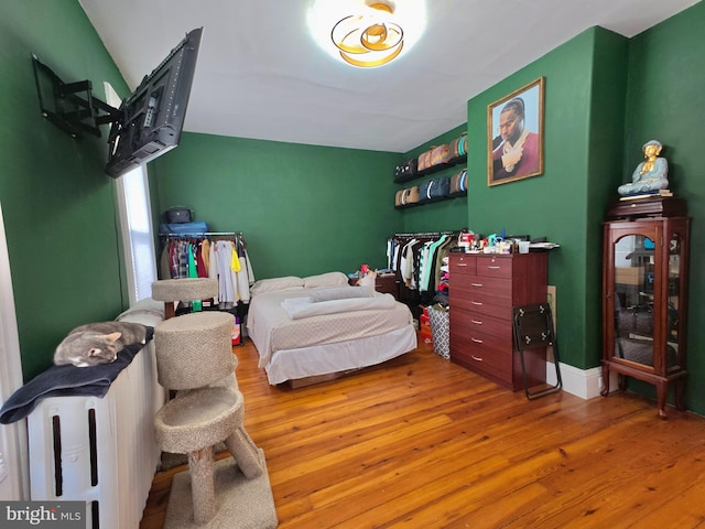
[[[684,216],[604,223],[601,395],[610,371],[620,389],[627,377],[652,384],[664,419],[672,382],[675,407],[684,409],[688,242]]]

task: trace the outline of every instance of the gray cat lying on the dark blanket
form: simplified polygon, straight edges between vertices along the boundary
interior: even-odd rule
[[[98,322],[74,328],[54,352],[54,364],[89,367],[109,364],[126,345],[145,344],[147,327],[139,323]]]

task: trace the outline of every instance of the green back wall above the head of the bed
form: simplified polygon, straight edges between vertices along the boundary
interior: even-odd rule
[[[399,153],[184,133],[150,166],[156,208],[243,231],[258,279],[384,268]]]

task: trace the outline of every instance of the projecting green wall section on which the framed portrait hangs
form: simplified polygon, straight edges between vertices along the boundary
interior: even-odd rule
[[[468,101],[469,227],[546,237],[562,360],[585,369],[601,355],[599,222],[619,182],[627,40],[593,28]],[[487,185],[487,108],[545,77],[544,173]]]

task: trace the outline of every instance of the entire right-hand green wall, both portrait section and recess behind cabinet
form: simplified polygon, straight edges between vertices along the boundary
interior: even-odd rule
[[[705,212],[699,177],[705,105],[705,3],[627,40],[593,28],[468,101],[469,227],[488,234],[505,227],[561,244],[550,257],[549,281],[557,288],[562,359],[578,368],[601,356],[601,220],[631,179],[641,145],[658,139],[669,159],[671,188],[687,199],[691,244],[688,380],[685,403],[705,413],[703,263]],[[506,185],[486,185],[487,106],[544,76],[544,174]],[[653,387],[631,384],[654,396]]]

